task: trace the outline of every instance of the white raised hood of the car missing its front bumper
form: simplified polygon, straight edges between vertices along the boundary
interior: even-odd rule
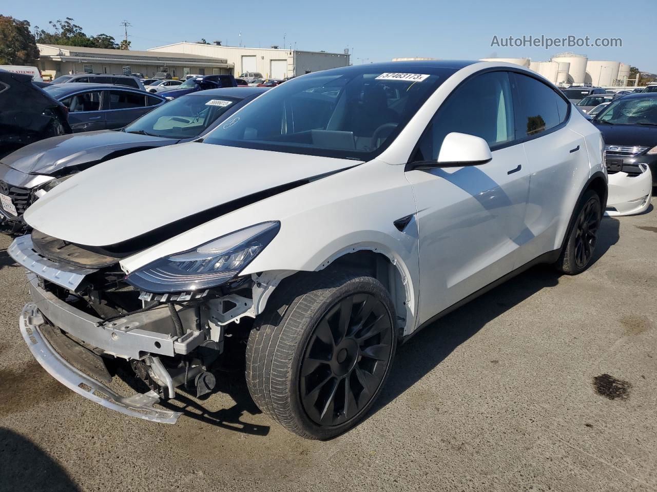
[[[117,157],[73,176],[35,201],[26,222],[49,236],[88,246],[117,245],[165,226],[175,235],[194,227],[200,213],[222,215],[230,207],[221,205],[246,206],[267,190],[276,193],[358,164],[197,142],[147,154]],[[258,217],[253,221],[257,224]]]

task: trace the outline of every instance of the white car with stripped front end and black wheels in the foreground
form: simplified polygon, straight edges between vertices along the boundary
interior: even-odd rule
[[[534,264],[591,265],[602,145],[514,64],[304,75],[202,143],[117,157],[36,201],[9,248],[30,270],[20,329],[71,390],[171,423],[154,404],[209,392],[213,364],[246,345],[260,409],[332,438],[367,415],[399,342]],[[116,394],[105,359],[150,391]]]

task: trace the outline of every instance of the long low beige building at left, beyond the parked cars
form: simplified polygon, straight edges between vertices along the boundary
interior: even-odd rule
[[[124,51],[64,45],[39,48],[41,72],[53,79],[67,73],[143,73],[168,72],[181,78],[186,73],[233,73],[234,66],[225,58],[164,51]]]

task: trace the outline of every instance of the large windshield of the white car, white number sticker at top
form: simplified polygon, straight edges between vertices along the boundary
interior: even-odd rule
[[[303,75],[263,94],[204,142],[371,160],[454,70],[350,67]]]

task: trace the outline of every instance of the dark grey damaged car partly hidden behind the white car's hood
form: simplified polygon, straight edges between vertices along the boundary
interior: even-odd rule
[[[122,129],[57,136],[7,155],[0,161],[5,225],[24,232],[24,211],[74,174],[122,155],[202,138],[265,91],[245,87],[195,92],[158,106]]]

